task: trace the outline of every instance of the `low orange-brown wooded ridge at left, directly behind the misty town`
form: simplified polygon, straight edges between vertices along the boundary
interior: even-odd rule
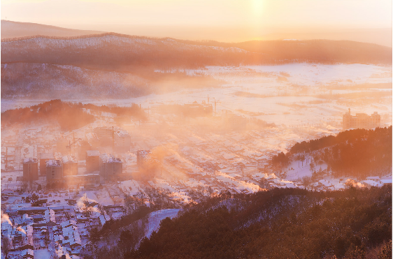
[[[98,112],[113,112],[118,116],[130,116],[140,119],[145,118],[145,113],[138,105],[131,105],[129,108],[113,107],[106,105],[97,106],[92,104],[69,103],[61,100],[52,100],[40,103],[28,108],[18,108],[1,112],[1,126],[10,124],[29,124],[34,121],[55,121],[64,131],[72,131],[94,122],[93,114],[85,109],[96,110]]]

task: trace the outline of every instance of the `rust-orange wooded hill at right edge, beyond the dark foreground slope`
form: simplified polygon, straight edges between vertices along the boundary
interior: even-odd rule
[[[303,141],[291,147],[287,154],[273,156],[273,165],[286,166],[308,154],[314,164],[326,163],[335,177],[354,176],[364,179],[392,170],[392,126],[366,130],[358,128]]]

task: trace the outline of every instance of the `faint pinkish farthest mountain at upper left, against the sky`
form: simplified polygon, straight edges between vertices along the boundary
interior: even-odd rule
[[[78,29],[66,29],[45,24],[36,24],[32,22],[12,22],[1,20],[1,39],[3,38],[20,38],[26,36],[81,36],[88,34],[100,34],[102,31],[85,31]]]

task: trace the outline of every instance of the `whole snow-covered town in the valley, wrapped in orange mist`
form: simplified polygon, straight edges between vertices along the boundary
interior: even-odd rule
[[[231,110],[217,112],[205,101],[176,109],[161,105],[148,110],[148,121],[121,122],[116,114],[85,109],[95,121],[67,132],[41,123],[2,128],[1,235],[10,249],[22,258],[75,259],[92,229],[141,206],[180,209],[227,191],[392,183],[392,175],[335,179],[328,173],[306,183],[311,159],[279,172],[269,163],[296,142],[334,135],[340,127],[376,128],[377,112],[353,117],[349,111],[326,131],[269,125]]]

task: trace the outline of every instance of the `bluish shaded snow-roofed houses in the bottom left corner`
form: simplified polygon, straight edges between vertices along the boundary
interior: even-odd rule
[[[98,204],[90,202],[88,206]],[[89,240],[89,230],[110,219],[105,211],[94,211],[69,205],[8,209],[1,215],[1,238],[7,237],[9,250],[22,258],[34,258],[35,251],[48,249],[59,258],[76,259]]]

